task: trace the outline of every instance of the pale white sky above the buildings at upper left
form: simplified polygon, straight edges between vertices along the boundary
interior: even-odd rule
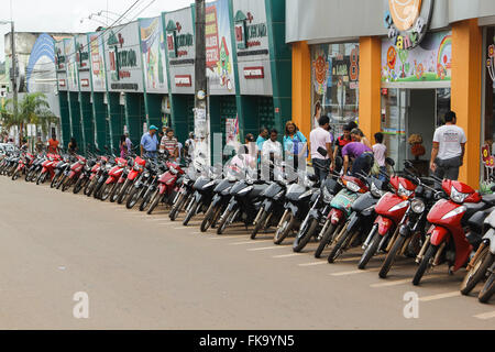
[[[102,16],[94,16],[91,13],[110,11],[122,14],[136,0],[0,0],[0,21],[10,20],[10,4],[12,4],[12,19],[15,31],[19,32],[92,32],[100,23],[106,22]],[[147,4],[151,6],[143,10]],[[188,7],[194,0],[140,0],[138,4],[125,15],[129,20],[138,18],[151,18],[160,15],[163,11],[173,11]],[[84,19],[82,23],[80,20]],[[117,19],[109,14],[109,24]],[[98,20],[98,21],[96,21]],[[123,21],[125,23],[129,21]],[[4,34],[10,32],[10,24],[0,24],[0,62],[4,59]],[[8,44],[10,45],[10,44]]]

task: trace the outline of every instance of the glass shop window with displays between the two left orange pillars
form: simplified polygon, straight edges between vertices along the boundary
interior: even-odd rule
[[[311,129],[318,127],[316,106],[330,118],[334,135],[359,118],[359,44],[311,46]]]

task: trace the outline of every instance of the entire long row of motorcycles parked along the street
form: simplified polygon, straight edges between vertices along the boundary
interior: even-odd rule
[[[397,257],[410,257],[417,265],[413,278],[447,263],[450,275],[466,268],[463,295],[479,283],[479,300],[487,302],[495,293],[495,195],[481,195],[460,182],[420,177],[406,162],[404,172],[380,176],[341,175],[328,169],[324,182],[284,163],[262,172],[252,168],[243,155],[224,166],[207,166],[200,154],[177,164],[165,154],[121,158],[108,152],[87,156],[32,155],[15,151],[3,156],[0,174],[43,184],[74,194],[125,204],[151,215],[165,205],[175,221],[184,212],[184,226],[202,215],[200,230],[223,234],[234,224],[245,226],[255,239],[274,233],[282,244],[294,235],[293,250],[301,252],[310,241],[320,257],[329,249],[328,262],[361,248],[358,267],[385,254],[380,277],[386,278]],[[266,172],[266,173],[265,173]],[[495,189],[493,189],[495,191]]]

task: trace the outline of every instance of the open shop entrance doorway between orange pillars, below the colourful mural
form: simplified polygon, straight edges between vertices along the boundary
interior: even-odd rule
[[[396,170],[405,161],[428,175],[428,165],[435,130],[450,110],[450,89],[392,88],[382,91],[382,131],[385,134],[387,155],[396,163]],[[422,139],[425,155],[413,155],[408,140],[413,134]]]

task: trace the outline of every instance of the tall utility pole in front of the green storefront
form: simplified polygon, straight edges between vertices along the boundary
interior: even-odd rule
[[[198,146],[209,160],[208,143],[208,81],[206,74],[206,19],[205,0],[196,0],[196,59],[195,59],[195,135]]]

